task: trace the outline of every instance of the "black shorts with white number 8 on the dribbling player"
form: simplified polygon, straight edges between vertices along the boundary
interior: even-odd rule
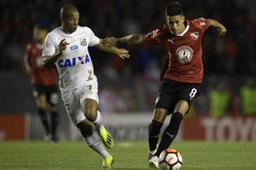
[[[202,83],[187,83],[163,79],[154,108],[168,110],[168,115],[170,115],[173,113],[178,101],[184,99],[189,103],[190,109],[192,101],[199,96],[201,89]],[[189,109],[186,113],[189,112]]]

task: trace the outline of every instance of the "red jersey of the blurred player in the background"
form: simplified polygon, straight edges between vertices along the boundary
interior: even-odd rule
[[[50,86],[57,84],[57,71],[56,67],[42,66],[42,52],[43,48],[38,43],[29,43],[26,45],[25,57],[28,58],[32,75],[31,83],[33,85]]]

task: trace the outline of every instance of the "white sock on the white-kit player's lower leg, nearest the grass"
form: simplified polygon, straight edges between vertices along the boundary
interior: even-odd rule
[[[102,157],[109,156],[107,150],[105,147],[103,147],[102,142],[100,141],[100,138],[98,137],[98,134],[93,131],[90,137],[83,138],[86,144],[91,147],[91,149],[95,150],[100,154]]]

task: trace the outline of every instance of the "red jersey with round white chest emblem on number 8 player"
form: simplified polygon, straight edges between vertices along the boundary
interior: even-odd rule
[[[168,56],[161,71],[160,79],[180,82],[202,82],[202,36],[209,28],[204,18],[187,20],[183,33],[173,35],[168,25],[154,30],[143,39],[154,45],[167,48]]]

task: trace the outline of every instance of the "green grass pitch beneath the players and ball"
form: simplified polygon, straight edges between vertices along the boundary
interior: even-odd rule
[[[181,169],[256,169],[256,142],[173,142]],[[148,169],[147,142],[115,142],[112,169]],[[102,159],[83,141],[0,142],[0,169],[100,169]]]

